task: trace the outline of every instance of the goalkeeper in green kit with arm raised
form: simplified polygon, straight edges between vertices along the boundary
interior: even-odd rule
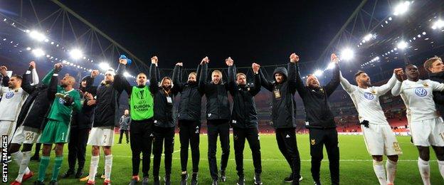
[[[58,82],[58,71],[60,71],[62,66],[60,63],[56,64],[51,83]],[[56,144],[56,159],[50,184],[58,184],[58,172],[63,162],[63,145],[68,142],[69,137],[70,118],[73,111],[80,111],[82,107],[80,104],[80,93],[73,88],[74,85],[75,78],[67,74],[60,81],[60,85],[56,86],[56,99],[53,101],[53,105],[51,105],[47,117],[48,122],[40,138],[40,142],[43,143],[43,152],[40,165],[38,166],[38,180],[35,184],[44,184],[43,181],[45,180],[53,144]]]

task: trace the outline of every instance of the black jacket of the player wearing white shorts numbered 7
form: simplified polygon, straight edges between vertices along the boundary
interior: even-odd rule
[[[117,70],[118,71],[118,70]],[[117,80],[111,83],[103,81],[97,88],[93,127],[118,127],[119,98],[122,85]]]

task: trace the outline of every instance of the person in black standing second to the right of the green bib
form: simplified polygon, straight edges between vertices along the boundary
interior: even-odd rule
[[[181,65],[176,65],[174,71],[179,73],[178,78],[173,78],[181,98],[179,101],[179,111],[177,115],[179,125],[179,140],[181,142],[181,185],[186,185],[188,173],[186,166],[188,164],[188,148],[191,145],[191,159],[193,164],[193,174],[191,175],[191,185],[198,183],[199,172],[199,133],[201,131],[201,100],[203,90],[199,89],[197,79],[201,73],[201,65],[198,65],[197,72],[191,72],[188,75],[186,83],[181,83]]]

